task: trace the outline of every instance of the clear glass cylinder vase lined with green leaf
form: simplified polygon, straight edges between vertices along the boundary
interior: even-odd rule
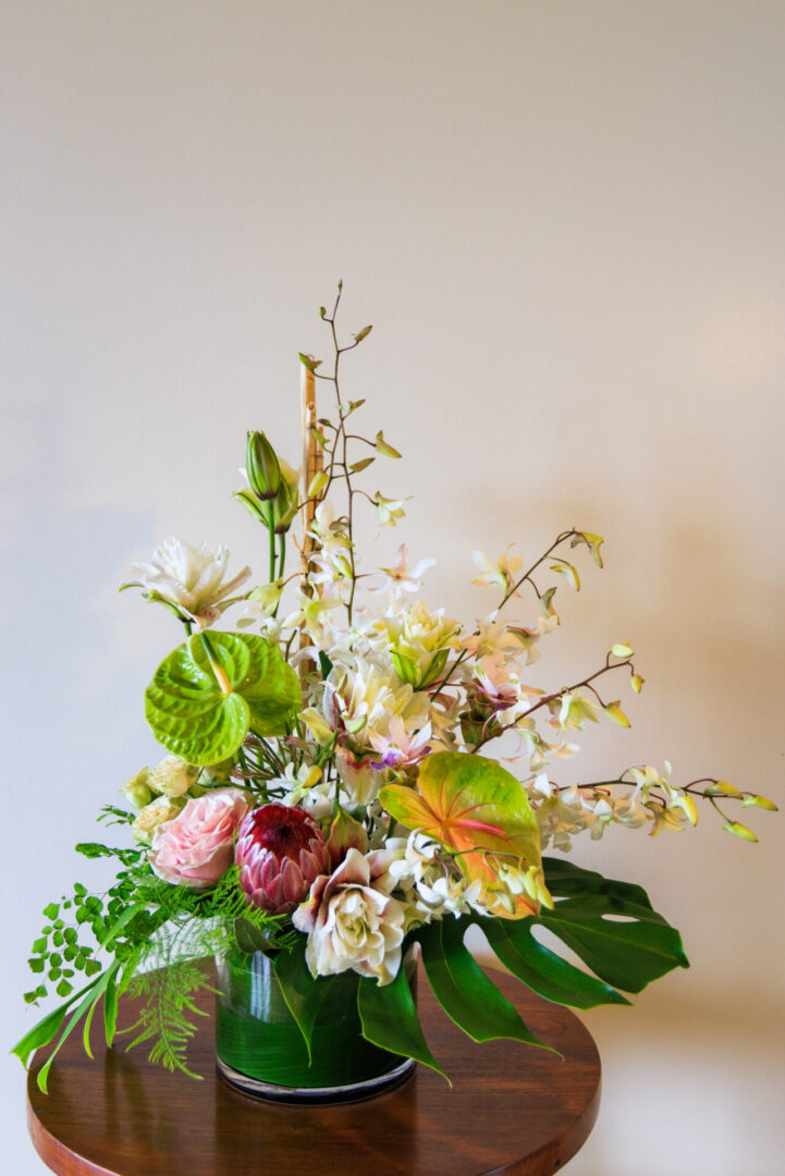
[[[273,961],[235,948],[216,961],[217,1067],[232,1085],[257,1098],[287,1103],[337,1103],[369,1098],[402,1082],[411,1058],[390,1054],[362,1036],[356,973],[314,981],[320,1008],[308,1057]],[[416,968],[411,990],[416,1000]],[[324,983],[322,993],[317,985]]]

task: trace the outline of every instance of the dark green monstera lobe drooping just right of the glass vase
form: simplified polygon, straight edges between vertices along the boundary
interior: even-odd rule
[[[444,918],[429,923],[415,934],[436,1000],[448,1017],[472,1041],[508,1037],[549,1049],[529,1029],[515,1005],[502,996],[464,946],[463,936],[469,923],[470,920]]]

